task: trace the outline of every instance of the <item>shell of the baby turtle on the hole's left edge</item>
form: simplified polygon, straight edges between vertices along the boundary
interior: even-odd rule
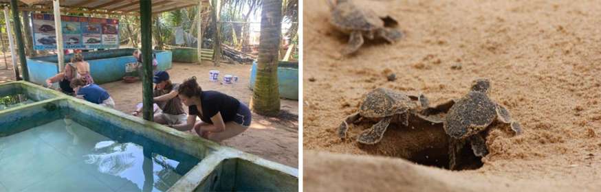
[[[359,108],[359,113],[362,117],[381,118],[406,112],[409,108],[416,106],[417,104],[411,101],[407,95],[388,88],[376,88],[367,93]]]

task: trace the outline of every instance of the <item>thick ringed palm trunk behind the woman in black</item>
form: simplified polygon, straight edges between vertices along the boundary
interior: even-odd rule
[[[281,41],[282,0],[263,1],[261,37],[250,108],[259,115],[275,116],[280,111],[278,53]]]

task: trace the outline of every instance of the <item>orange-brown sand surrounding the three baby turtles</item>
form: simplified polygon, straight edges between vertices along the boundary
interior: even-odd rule
[[[342,56],[348,36],[329,25],[326,1],[304,1],[306,190],[601,191],[601,3],[356,3],[395,17],[406,36],[394,44],[368,42],[356,55]],[[387,81],[389,73],[397,80]],[[366,156],[354,139],[334,134],[373,88],[424,93],[439,104],[465,95],[477,77],[492,81],[489,96],[524,129],[513,136],[494,126],[480,169],[448,171]],[[355,126],[349,136],[365,128]]]

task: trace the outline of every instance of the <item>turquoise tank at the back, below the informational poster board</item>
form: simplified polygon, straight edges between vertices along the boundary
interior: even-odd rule
[[[90,64],[90,73],[96,84],[104,84],[122,80],[125,76],[125,64],[135,62],[131,55],[135,49],[111,49],[104,51],[83,52],[84,60]],[[173,55],[171,51],[154,51],[157,55],[158,70],[171,69]],[[69,62],[73,54],[65,55]],[[28,58],[30,81],[45,84],[45,80],[58,73],[58,56]]]

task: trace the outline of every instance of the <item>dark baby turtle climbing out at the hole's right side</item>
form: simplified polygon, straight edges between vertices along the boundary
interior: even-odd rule
[[[507,108],[490,100],[487,93],[490,82],[486,79],[475,80],[470,93],[452,104],[444,117],[443,128],[450,136],[449,167],[455,169],[460,162],[459,152],[467,142],[470,143],[474,155],[483,157],[488,154],[483,131],[494,121],[507,123],[516,135],[522,128],[514,121]]]

